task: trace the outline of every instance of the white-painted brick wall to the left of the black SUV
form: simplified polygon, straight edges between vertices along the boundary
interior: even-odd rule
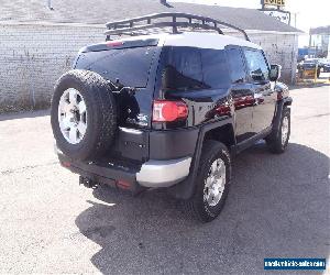
[[[0,23],[0,112],[50,106],[78,50],[105,41],[103,26]]]

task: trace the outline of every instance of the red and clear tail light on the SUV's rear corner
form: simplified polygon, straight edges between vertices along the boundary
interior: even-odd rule
[[[187,117],[188,107],[184,101],[154,100],[154,122],[170,122]]]

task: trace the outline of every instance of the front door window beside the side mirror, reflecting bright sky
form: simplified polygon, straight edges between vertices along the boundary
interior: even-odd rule
[[[268,80],[270,68],[261,51],[244,50],[248,69],[254,80]]]

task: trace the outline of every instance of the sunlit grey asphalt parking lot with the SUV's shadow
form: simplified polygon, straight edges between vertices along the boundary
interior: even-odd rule
[[[292,96],[287,152],[258,143],[237,157],[207,224],[162,190],[79,186],[47,111],[0,116],[0,273],[301,274],[265,272],[264,257],[327,257],[329,272],[330,86]]]

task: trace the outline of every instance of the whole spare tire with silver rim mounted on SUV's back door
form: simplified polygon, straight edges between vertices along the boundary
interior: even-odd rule
[[[64,154],[80,161],[101,156],[117,129],[116,101],[106,79],[81,69],[64,74],[55,86],[51,122]]]

